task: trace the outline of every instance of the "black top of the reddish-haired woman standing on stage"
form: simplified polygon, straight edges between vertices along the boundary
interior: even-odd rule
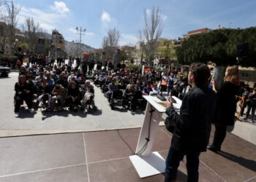
[[[223,82],[217,92],[217,124],[233,125],[236,113],[236,95],[240,87],[231,82]]]

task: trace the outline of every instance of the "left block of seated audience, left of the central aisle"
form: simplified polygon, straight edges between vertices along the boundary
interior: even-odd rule
[[[65,107],[70,111],[95,108],[94,88],[86,80],[80,66],[21,66],[18,82],[15,83],[16,117],[24,101],[31,113],[35,108],[46,111],[62,111]]]

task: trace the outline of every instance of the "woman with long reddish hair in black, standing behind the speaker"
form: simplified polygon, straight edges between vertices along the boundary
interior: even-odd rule
[[[217,92],[217,118],[214,121],[214,141],[207,148],[211,151],[220,151],[226,136],[228,125],[234,125],[236,113],[236,95],[240,91],[240,76],[237,66],[228,66],[222,86],[217,90],[217,85],[212,82],[213,90]]]

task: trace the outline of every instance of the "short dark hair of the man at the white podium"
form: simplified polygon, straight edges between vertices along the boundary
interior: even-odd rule
[[[203,63],[192,63],[189,71],[195,76],[195,84],[197,86],[206,85],[211,76],[210,69]]]

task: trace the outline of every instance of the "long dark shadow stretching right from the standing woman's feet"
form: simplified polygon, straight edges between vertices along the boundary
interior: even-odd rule
[[[225,151],[220,151],[219,154],[226,159],[238,163],[239,165],[246,167],[249,170],[256,172],[256,162],[251,159],[245,159],[244,157],[237,157],[233,154],[227,153]]]

